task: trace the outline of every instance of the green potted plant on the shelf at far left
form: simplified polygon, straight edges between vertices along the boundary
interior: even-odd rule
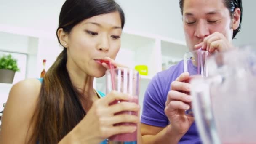
[[[19,70],[11,54],[0,56],[0,83],[13,83],[15,72]]]

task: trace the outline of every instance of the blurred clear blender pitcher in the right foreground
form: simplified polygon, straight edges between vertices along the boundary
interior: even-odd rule
[[[208,62],[191,80],[192,106],[204,144],[256,144],[256,51],[239,48]]]

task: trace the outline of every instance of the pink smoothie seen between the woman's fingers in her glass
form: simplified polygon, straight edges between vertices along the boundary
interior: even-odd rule
[[[134,102],[136,104],[138,104],[138,97],[134,96],[134,99],[131,99],[129,102]],[[111,104],[116,104],[117,101],[113,101]],[[129,114],[129,115],[138,115],[138,112],[132,112],[132,111],[123,111],[123,112],[118,112],[115,115],[120,115],[120,114]],[[137,126],[137,124],[135,123],[117,123],[116,125],[133,125],[133,126]],[[137,130],[134,131],[133,133],[123,133],[123,134],[117,134],[114,136],[111,136],[109,138],[109,141],[137,141]]]

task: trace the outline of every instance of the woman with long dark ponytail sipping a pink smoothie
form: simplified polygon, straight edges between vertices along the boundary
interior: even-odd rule
[[[120,49],[124,23],[124,13],[114,0],[67,0],[56,31],[64,49],[41,82],[29,79],[13,85],[0,143],[99,144],[112,135],[136,131],[134,126],[113,125],[138,123],[138,116],[114,115],[139,111],[137,104],[109,106],[130,96],[112,91],[101,98],[104,94],[93,89],[94,77],[104,76],[108,68],[101,60],[120,66],[112,59]]]

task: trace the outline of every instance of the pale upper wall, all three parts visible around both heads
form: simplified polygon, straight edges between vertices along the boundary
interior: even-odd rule
[[[159,34],[184,40],[178,0],[116,0],[125,11],[125,29]],[[0,24],[50,32],[55,36],[58,16],[64,0],[2,0],[0,1]],[[236,45],[252,43],[255,24],[254,0],[243,0],[242,30],[234,40]]]

